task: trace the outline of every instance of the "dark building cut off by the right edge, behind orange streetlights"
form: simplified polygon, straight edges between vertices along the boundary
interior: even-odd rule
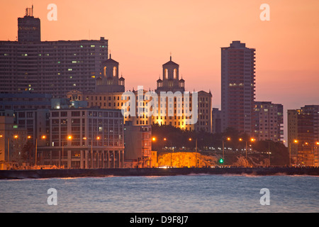
[[[319,167],[319,105],[288,110],[287,126],[292,164]]]

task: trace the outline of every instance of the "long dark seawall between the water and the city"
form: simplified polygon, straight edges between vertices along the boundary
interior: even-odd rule
[[[52,177],[124,177],[174,175],[311,175],[319,176],[316,167],[220,167],[220,168],[123,168],[123,169],[70,169],[70,170],[0,170],[0,179]]]

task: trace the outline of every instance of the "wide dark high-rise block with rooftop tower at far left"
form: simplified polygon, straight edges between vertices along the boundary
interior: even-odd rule
[[[18,41],[0,41],[0,93],[31,91],[65,97],[94,90],[108,59],[108,40],[40,40],[33,11],[18,18]]]

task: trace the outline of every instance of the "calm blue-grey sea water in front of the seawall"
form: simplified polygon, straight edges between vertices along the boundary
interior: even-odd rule
[[[47,190],[57,190],[57,206]],[[269,189],[270,205],[259,202]],[[319,177],[186,175],[0,180],[0,212],[318,212]]]

